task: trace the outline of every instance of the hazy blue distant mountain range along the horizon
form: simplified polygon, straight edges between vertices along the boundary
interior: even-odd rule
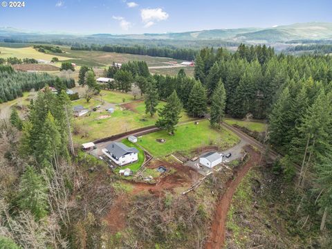
[[[201,30],[183,33],[160,33],[142,35],[75,35],[59,33],[39,33],[34,31],[18,30],[16,28],[0,28],[0,38],[6,37],[34,37],[40,35],[52,36],[53,39],[68,37],[98,37],[98,39],[160,39],[174,41],[199,41],[199,40],[222,40],[225,42],[248,42],[248,43],[283,43],[297,40],[332,40],[332,23],[311,22],[276,26],[273,28],[234,28]]]

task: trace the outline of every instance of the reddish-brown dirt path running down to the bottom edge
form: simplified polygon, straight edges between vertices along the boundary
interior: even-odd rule
[[[234,174],[234,178],[230,179],[226,183],[227,190],[222,196],[220,196],[218,203],[216,203],[216,210],[214,214],[214,220],[212,221],[210,239],[205,244],[205,249],[223,248],[225,241],[225,223],[234,192],[237,190],[237,186],[239,183],[241,183],[243,176],[246,176],[249,169],[259,163],[261,156],[259,152],[255,151],[250,146],[246,146],[245,149],[250,155],[250,158],[245,165],[238,169],[238,171]]]

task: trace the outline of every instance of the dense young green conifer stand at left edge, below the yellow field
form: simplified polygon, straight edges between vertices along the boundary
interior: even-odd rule
[[[39,90],[44,86],[55,86],[57,77],[48,73],[25,73],[0,65],[0,103],[15,100],[24,91]],[[62,79],[67,88],[75,86],[73,79]]]

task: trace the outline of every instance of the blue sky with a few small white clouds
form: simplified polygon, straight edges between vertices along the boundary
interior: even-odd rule
[[[2,1],[2,0],[1,0]],[[66,33],[165,33],[332,22],[332,0],[26,0],[0,27]]]

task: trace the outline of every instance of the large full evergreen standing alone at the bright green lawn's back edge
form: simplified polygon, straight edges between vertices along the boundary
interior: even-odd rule
[[[156,122],[156,127],[165,129],[167,132],[174,134],[175,126],[181,118],[181,109],[181,100],[178,98],[178,95],[176,95],[176,91],[174,91],[169,98],[167,98],[165,107],[158,111],[159,119]]]

